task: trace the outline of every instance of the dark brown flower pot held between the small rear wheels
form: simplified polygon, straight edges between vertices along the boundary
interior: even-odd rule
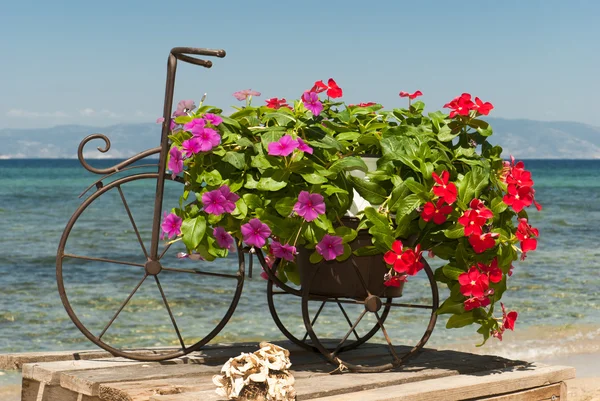
[[[350,219],[344,218],[343,220],[347,222]],[[371,244],[371,235],[367,231],[361,230],[356,239],[350,243],[350,247],[355,250]],[[383,277],[389,271],[389,267],[385,264],[381,254],[352,255],[343,262],[324,260],[313,264],[309,261],[312,252],[312,250],[300,248],[296,256],[300,282],[302,286],[310,286],[312,295],[365,299],[368,296],[365,290],[366,285],[371,294],[379,297],[402,296],[403,282],[400,287],[383,285]],[[365,285],[363,285],[361,277]]]

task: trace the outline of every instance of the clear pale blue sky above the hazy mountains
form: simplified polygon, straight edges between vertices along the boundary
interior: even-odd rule
[[[600,2],[12,1],[0,7],[0,128],[153,122],[175,46],[223,48],[180,65],[175,99],[224,109],[336,79],[347,103],[428,109],[470,92],[506,118],[600,126]]]

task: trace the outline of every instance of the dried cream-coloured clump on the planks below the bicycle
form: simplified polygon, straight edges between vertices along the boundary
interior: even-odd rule
[[[213,376],[217,394],[238,401],[294,401],[294,376],[290,352],[267,342],[252,354],[229,359],[221,374]]]

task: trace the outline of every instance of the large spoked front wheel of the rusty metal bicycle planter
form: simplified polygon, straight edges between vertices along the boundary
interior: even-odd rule
[[[185,261],[178,241],[151,260],[148,199],[157,179],[136,174],[90,195],[67,223],[56,258],[59,294],[75,326],[112,354],[141,361],[176,358],[208,343],[230,319],[244,283],[242,252],[237,260]],[[181,189],[166,177],[165,201],[178,201]]]

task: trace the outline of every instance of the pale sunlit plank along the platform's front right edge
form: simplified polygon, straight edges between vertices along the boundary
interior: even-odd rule
[[[527,368],[505,368],[472,375],[432,379],[352,394],[315,398],[313,401],[453,401],[485,398],[540,387],[575,377],[575,369],[532,364]]]

